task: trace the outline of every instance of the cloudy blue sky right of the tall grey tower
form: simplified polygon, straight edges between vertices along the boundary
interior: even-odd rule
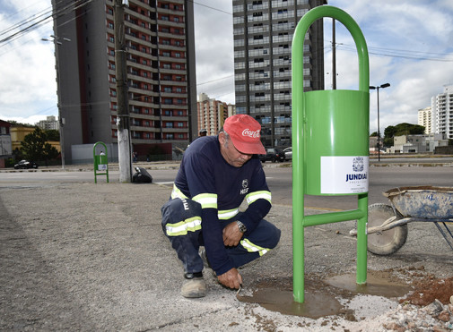
[[[370,85],[391,84],[379,90],[380,132],[388,125],[416,124],[418,110],[431,106],[431,97],[453,83],[451,2],[332,0],[329,4],[359,24],[370,51]],[[344,82],[344,89],[357,89],[355,46],[348,35],[337,28],[336,41],[344,43],[337,48],[338,82]],[[377,93],[371,90],[370,132],[377,130],[377,120]]]

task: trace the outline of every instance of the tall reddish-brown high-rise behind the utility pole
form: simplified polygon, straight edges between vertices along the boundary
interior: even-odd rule
[[[139,156],[197,136],[193,2],[128,0],[126,81],[131,142]],[[115,1],[52,0],[58,99],[71,146],[118,141]],[[167,144],[162,144],[167,143]]]

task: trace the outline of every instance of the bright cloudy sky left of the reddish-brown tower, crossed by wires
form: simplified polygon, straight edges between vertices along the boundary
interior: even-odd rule
[[[17,22],[50,8],[49,0],[33,4],[13,2],[2,8],[0,30],[8,30]],[[6,31],[2,37],[17,31],[19,29]],[[0,66],[0,77],[4,78],[0,85],[0,118],[32,123],[46,115],[57,115],[54,45],[41,41],[50,34],[51,19],[21,38],[0,44],[0,60],[7,64]]]

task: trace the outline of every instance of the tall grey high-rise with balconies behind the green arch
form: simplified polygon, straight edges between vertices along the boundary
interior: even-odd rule
[[[233,0],[236,113],[262,127],[266,147],[291,145],[292,35],[303,14],[326,0]],[[304,89],[324,89],[322,20],[304,44]]]

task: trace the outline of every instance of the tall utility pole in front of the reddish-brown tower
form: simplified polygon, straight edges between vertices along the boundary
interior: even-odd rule
[[[127,1],[115,0],[115,75],[117,80],[118,100],[118,164],[119,182],[131,183],[132,156],[130,116],[127,97],[127,72],[126,72],[126,39],[124,6]]]

